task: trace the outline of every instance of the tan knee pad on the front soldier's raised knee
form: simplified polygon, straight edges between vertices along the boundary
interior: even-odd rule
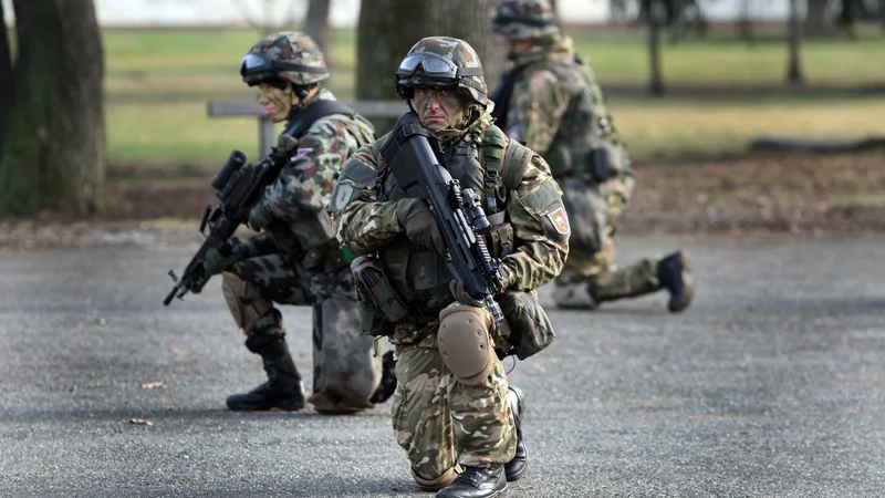
[[[442,362],[464,385],[479,385],[491,373],[494,345],[489,318],[482,308],[455,303],[439,312],[437,347]]]

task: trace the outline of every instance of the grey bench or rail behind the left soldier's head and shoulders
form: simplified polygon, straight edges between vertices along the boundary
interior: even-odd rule
[[[408,111],[406,101],[360,101],[348,104],[365,118],[396,118]],[[277,145],[277,125],[268,120],[264,108],[252,102],[215,102],[209,101],[207,111],[210,117],[253,116],[258,120],[259,152],[261,157]]]

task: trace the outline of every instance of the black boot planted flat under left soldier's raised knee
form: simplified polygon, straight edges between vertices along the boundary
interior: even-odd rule
[[[268,382],[247,394],[228,396],[228,408],[235,412],[257,412],[270,408],[295,411],[304,407],[304,387],[301,375],[289,354],[289,346],[282,338],[249,335],[246,340],[249,351],[261,355]]]

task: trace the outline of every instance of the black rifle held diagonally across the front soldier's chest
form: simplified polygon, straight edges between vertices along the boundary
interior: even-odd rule
[[[421,126],[418,115],[399,117],[382,146],[397,183],[409,197],[427,203],[448,249],[446,264],[456,280],[481,299],[499,323],[503,314],[493,297],[501,291],[500,261],[489,255],[483,235],[491,228],[479,196],[460,184],[444,167],[439,141]]]

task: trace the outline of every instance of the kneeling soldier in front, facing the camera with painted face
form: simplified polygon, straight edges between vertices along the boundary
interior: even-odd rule
[[[555,278],[569,237],[561,191],[539,155],[491,126],[492,103],[473,49],[454,38],[420,40],[396,72],[396,92],[439,139],[452,178],[482,194],[502,292],[531,293]],[[406,197],[382,156],[391,136],[351,156],[330,210],[341,220],[339,240],[377,261],[407,309],[384,331],[397,355],[395,437],[421,489],[439,490],[439,497],[497,496],[525,470],[524,393],[508,386],[494,354],[485,377],[486,370],[469,382],[459,377],[439,338],[446,317],[467,310],[487,322],[482,333],[498,349],[508,340],[508,322],[488,325],[488,310],[452,280],[427,205]]]

